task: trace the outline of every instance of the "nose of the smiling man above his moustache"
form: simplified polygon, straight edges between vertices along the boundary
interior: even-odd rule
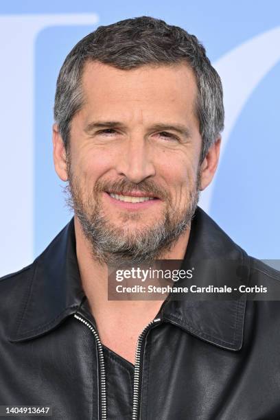
[[[154,176],[156,171],[151,147],[143,135],[131,136],[121,150],[116,168],[118,174],[126,176],[135,184],[149,176]]]

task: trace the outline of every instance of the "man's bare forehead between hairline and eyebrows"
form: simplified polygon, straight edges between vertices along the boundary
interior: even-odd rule
[[[85,107],[104,113],[136,112],[194,115],[197,95],[194,71],[185,63],[143,65],[123,70],[100,62],[86,62],[82,74]],[[117,117],[117,115],[116,115]]]

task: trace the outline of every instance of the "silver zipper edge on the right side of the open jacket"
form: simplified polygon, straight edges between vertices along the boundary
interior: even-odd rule
[[[139,382],[140,382],[140,362],[141,362],[141,347],[143,339],[147,334],[148,330],[154,323],[158,323],[161,318],[156,318],[152,320],[141,332],[138,340],[135,353],[135,375],[134,375],[134,384],[133,384],[133,401],[132,401],[132,420],[138,420],[139,415]]]

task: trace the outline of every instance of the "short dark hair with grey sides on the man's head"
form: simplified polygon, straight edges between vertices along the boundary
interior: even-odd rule
[[[202,137],[202,161],[224,128],[222,83],[196,36],[161,19],[141,16],[97,27],[73,47],[56,84],[54,119],[68,149],[71,120],[83,106],[82,71],[86,61],[99,61],[117,69],[186,62],[198,87],[196,116]]]

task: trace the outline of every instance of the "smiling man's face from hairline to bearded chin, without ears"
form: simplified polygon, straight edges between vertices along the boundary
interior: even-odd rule
[[[82,87],[67,167],[75,214],[106,264],[158,259],[198,202],[194,73],[184,64],[124,71],[87,62]]]

